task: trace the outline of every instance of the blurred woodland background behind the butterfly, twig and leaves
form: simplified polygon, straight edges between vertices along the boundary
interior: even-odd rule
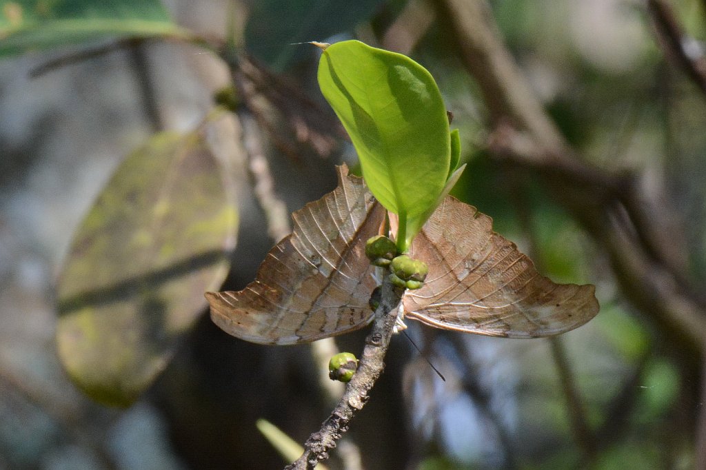
[[[12,42],[23,12],[83,12],[69,32],[95,20],[91,2],[47,5],[0,1],[0,469],[278,468],[256,420],[304,442],[328,416],[309,346],[229,337],[201,299],[136,401],[98,404],[57,355],[56,280],[121,162],[157,131],[192,132],[235,80],[237,113],[202,129],[229,165],[225,286],[243,288],[287,230],[277,200],[297,210],[334,188],[335,164],[356,167],[318,90],[318,49],[292,45],[352,38],[429,69],[468,164],[454,194],[552,279],[595,284],[601,311],[553,341],[408,322],[446,382],[393,338],[327,465],[706,468],[706,2],[164,1],[180,31],[223,45],[230,30],[229,64],[174,32]],[[336,341],[358,353],[363,338]]]

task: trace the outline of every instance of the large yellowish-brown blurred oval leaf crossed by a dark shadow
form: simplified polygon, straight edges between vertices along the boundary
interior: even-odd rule
[[[237,212],[201,133],[133,152],[76,232],[58,285],[68,375],[104,404],[131,404],[227,274]]]

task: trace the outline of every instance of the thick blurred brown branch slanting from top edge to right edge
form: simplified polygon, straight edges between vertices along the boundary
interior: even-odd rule
[[[669,209],[641,193],[634,176],[614,176],[577,157],[503,45],[486,1],[437,3],[484,94],[496,128],[491,151],[544,178],[555,200],[604,247],[630,302],[664,327],[695,365],[706,344],[706,301],[688,287],[668,251],[675,245],[674,230],[664,224]]]

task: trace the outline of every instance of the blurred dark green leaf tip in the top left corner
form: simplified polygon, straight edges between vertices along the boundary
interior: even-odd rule
[[[0,1],[0,57],[106,37],[189,37],[158,0]]]

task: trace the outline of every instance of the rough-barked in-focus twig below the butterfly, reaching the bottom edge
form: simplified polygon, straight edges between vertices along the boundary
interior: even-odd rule
[[[357,372],[348,382],[335,409],[322,423],[321,429],[312,433],[306,440],[304,454],[287,466],[287,470],[313,469],[318,462],[327,459],[328,451],[335,447],[336,441],[348,430],[355,414],[363,409],[368,401],[368,392],[385,368],[384,358],[393,335],[401,297],[402,290],[393,287],[385,277],[380,305],[375,311],[373,328],[365,339],[365,348]]]

